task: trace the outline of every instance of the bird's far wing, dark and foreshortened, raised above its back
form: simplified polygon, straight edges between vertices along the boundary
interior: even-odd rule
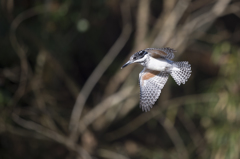
[[[145,49],[148,53],[151,54],[154,58],[167,58],[167,59],[173,59],[174,53],[176,52],[174,49],[171,48],[147,48]]]

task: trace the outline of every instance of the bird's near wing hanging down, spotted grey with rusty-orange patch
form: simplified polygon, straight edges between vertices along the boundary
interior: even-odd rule
[[[160,96],[168,76],[167,72],[152,71],[145,68],[139,74],[140,108],[143,111],[150,111]]]

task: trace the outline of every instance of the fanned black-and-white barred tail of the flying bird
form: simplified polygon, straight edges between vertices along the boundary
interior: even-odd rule
[[[188,78],[191,76],[191,65],[187,61],[174,62],[171,76],[180,86],[185,84]]]

